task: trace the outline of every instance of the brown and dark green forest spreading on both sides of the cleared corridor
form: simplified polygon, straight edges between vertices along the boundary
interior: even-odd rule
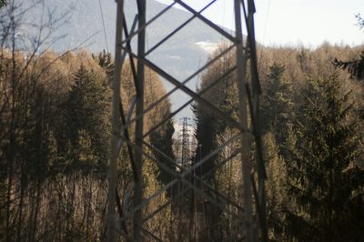
[[[46,39],[38,39],[25,51],[15,41],[16,17],[0,18],[0,241],[105,241],[114,57],[87,49],[39,51]],[[220,45],[210,58],[227,47]],[[364,240],[363,49],[329,43],[316,48],[258,45],[269,241]],[[198,89],[226,73],[235,59],[232,51],[224,54],[201,76]],[[130,61],[126,59],[121,72],[120,98],[125,106],[136,95]],[[234,72],[224,76],[203,96],[238,119],[236,78]],[[149,106],[167,91],[150,69],[145,80]],[[196,102],[191,108],[200,147],[194,160],[236,135],[234,127],[204,106]],[[166,99],[147,112],[143,123],[148,130],[168,119],[146,139],[175,156],[176,121],[170,114]],[[227,197],[241,206],[238,146],[233,141],[210,156],[197,176],[217,189],[211,196]],[[120,217],[133,206],[133,168],[127,148],[122,146],[117,163]],[[154,148],[147,148],[147,153],[143,197],[171,180],[155,159],[176,168]],[[253,153],[252,146],[251,159]],[[231,162],[225,163],[226,159]],[[212,166],[220,168],[211,172]],[[177,206],[186,201],[177,197],[178,202],[167,203],[175,189],[143,207],[144,227],[163,241],[195,241],[188,213]],[[221,241],[242,226],[232,218],[239,213],[235,206],[222,209],[206,203],[204,209],[204,231],[197,232],[198,241]],[[132,217],[122,220],[120,227],[128,241]]]

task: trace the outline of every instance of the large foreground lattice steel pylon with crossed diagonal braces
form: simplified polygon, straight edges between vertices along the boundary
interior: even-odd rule
[[[129,0],[132,1],[132,0]],[[193,194],[198,194],[198,197],[203,197],[204,201],[207,200],[211,207],[217,207],[219,211],[227,214],[229,219],[233,220],[237,227],[235,227],[223,239],[227,241],[267,241],[267,225],[266,225],[266,202],[264,191],[265,168],[262,156],[262,145],[260,137],[260,128],[258,126],[259,114],[259,96],[260,86],[258,81],[258,67],[257,67],[257,54],[256,54],[256,40],[254,31],[254,13],[255,5],[253,0],[224,0],[234,2],[235,11],[235,29],[234,34],[229,34],[223,28],[215,25],[208,20],[203,12],[212,5],[216,0],[211,0],[201,10],[195,10],[187,5],[184,1],[175,0],[171,5],[168,5],[157,15],[154,15],[146,20],[147,13],[147,0],[135,0],[137,4],[137,15],[134,25],[129,29],[125,21],[124,1],[116,0],[117,2],[117,16],[116,16],[116,51],[115,51],[115,71],[113,80],[113,108],[112,108],[112,142],[110,154],[110,167],[108,174],[108,206],[107,206],[107,233],[108,241],[116,241],[119,237],[124,237],[127,241],[142,241],[142,240],[162,240],[157,236],[155,231],[146,227],[148,219],[155,217],[160,211],[166,209],[167,206],[173,204],[177,199],[188,200],[191,193],[188,191],[193,190]],[[166,36],[161,36],[160,41],[150,47],[146,51],[146,31],[154,21],[159,19],[161,15],[165,15],[175,5],[184,8],[191,15],[187,20]],[[185,26],[190,25],[191,20],[198,19],[207,27],[214,29],[219,35],[222,35],[228,41],[228,46],[218,55],[212,57],[207,63],[198,68],[198,70],[188,76],[184,80],[178,80],[176,77],[169,74],[166,70],[157,66],[153,58],[148,58],[150,53],[154,52],[161,44],[165,43],[171,36],[177,35]],[[169,21],[173,22],[174,19]],[[137,25],[136,25],[137,24]],[[243,32],[246,37],[243,38]],[[136,49],[132,48],[131,41],[137,39]],[[186,40],[187,41],[187,40]],[[225,73],[220,76],[215,76],[215,80],[207,86],[202,86],[198,91],[194,91],[187,87],[187,83],[199,76],[202,72],[207,70],[219,59],[223,58],[229,53],[234,53],[236,61],[233,66],[229,66]],[[131,66],[132,76],[134,79],[134,86],[136,89],[136,97],[127,102],[130,106],[125,107],[120,102],[120,78],[121,66],[123,64],[124,56],[128,56]],[[163,77],[171,85],[175,86],[166,95],[159,96],[156,103],[145,106],[145,68],[148,67],[153,70],[157,75]],[[178,66],[176,66],[178,67]],[[248,75],[249,72],[249,75]],[[238,103],[238,118],[233,117],[223,110],[214,106],[204,96],[208,90],[216,87],[219,83],[224,81],[227,76],[233,76],[235,85],[238,87],[236,95]],[[145,129],[143,125],[143,118],[147,112],[150,112],[168,96],[171,96],[176,91],[182,91],[189,99],[183,106],[177,108],[169,116],[164,118],[149,130]],[[217,146],[214,150],[208,150],[208,154],[197,159],[197,162],[192,166],[180,166],[179,170],[171,168],[177,166],[174,157],[167,156],[156,147],[152,146],[147,137],[153,131],[157,130],[159,126],[163,126],[166,122],[180,112],[191,103],[197,103],[203,106],[206,110],[213,113],[217,118],[225,122],[228,126],[235,130],[235,135],[231,136],[226,142]],[[125,114],[124,110],[128,110]],[[249,118],[248,118],[249,116]],[[251,142],[254,142],[256,156],[253,161],[250,159]],[[221,194],[220,191],[214,187],[213,184],[204,176],[196,176],[193,172],[207,164],[212,156],[217,156],[219,152],[226,146],[232,143],[237,144],[239,162],[241,167],[242,186],[243,189],[242,199],[234,201],[229,197]],[[126,151],[129,155],[129,161],[133,173],[133,207],[126,213],[118,213],[116,216],[116,160],[120,148],[126,144]],[[204,148],[204,147],[202,147]],[[150,156],[148,150],[157,152],[160,156],[167,159],[168,164],[162,163],[154,156]],[[161,190],[157,191],[149,197],[143,197],[143,179],[142,168],[144,166],[144,159],[147,157],[153,160],[158,167],[167,172],[172,178],[170,182],[165,185]],[[210,170],[205,170],[204,174],[211,174],[219,169],[224,164],[233,162],[232,158],[221,160],[215,166],[208,166]],[[126,161],[121,161],[126,162]],[[191,182],[191,176],[195,182]],[[196,186],[198,181],[198,186]],[[153,201],[156,197],[160,196],[167,189],[175,187],[178,183],[183,183],[186,189],[178,191],[173,197],[168,197],[165,204],[161,204],[157,209],[149,214],[145,214],[143,208]],[[201,188],[203,187],[203,188]],[[189,203],[190,204],[190,203]],[[233,207],[233,209],[231,208]],[[254,207],[254,208],[253,208]],[[198,210],[198,209],[197,209]],[[207,213],[207,212],[206,212]],[[131,221],[126,225],[126,220]],[[238,221],[238,222],[237,222]],[[211,227],[211,230],[215,229]]]

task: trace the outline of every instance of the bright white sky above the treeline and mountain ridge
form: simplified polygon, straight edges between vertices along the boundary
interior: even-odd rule
[[[171,0],[157,0],[169,4]],[[199,10],[210,1],[185,0]],[[234,0],[217,0],[204,14],[234,28]],[[364,15],[364,0],[256,0],[256,35],[265,45],[364,44],[354,15]]]

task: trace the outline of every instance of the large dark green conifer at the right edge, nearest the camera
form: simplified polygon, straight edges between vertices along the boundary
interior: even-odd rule
[[[340,96],[339,80],[311,80],[303,106],[305,123],[288,163],[288,236],[298,241],[359,241],[364,231],[362,186],[357,166],[359,130],[349,123],[349,94]]]

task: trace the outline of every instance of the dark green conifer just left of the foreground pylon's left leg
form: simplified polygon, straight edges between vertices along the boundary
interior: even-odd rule
[[[80,157],[83,152],[79,142],[84,145],[90,142],[88,148],[95,152],[98,166],[106,164],[108,154],[108,99],[108,90],[102,80],[87,71],[85,66],[80,66],[66,101],[66,139],[76,148],[78,155],[75,157]],[[80,137],[80,134],[85,136]],[[84,140],[86,137],[89,141]]]

